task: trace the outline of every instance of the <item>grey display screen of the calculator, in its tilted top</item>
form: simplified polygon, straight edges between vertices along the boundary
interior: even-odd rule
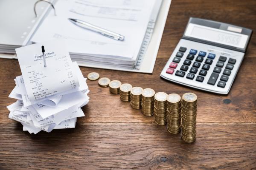
[[[193,23],[189,23],[185,35],[238,48],[244,48],[248,39],[248,36],[244,34],[238,34],[231,31],[220,30]]]

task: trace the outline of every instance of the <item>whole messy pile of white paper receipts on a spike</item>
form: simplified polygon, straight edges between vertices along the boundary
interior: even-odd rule
[[[17,48],[16,53],[22,76],[15,78],[16,86],[9,95],[17,99],[7,106],[9,118],[35,134],[74,128],[77,117],[84,116],[81,107],[89,102],[89,90],[79,66],[71,61],[64,40],[28,45]]]

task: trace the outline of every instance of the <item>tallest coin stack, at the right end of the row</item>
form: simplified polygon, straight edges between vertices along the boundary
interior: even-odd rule
[[[191,143],[195,141],[196,136],[196,111],[197,96],[193,93],[185,93],[182,96],[182,139]]]

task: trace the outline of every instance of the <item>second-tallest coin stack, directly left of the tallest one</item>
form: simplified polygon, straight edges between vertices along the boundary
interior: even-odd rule
[[[181,98],[178,94],[167,96],[167,130],[179,133],[181,129]]]

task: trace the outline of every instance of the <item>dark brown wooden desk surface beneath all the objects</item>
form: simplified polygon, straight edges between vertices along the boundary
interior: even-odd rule
[[[228,95],[198,91],[160,78],[189,17],[256,31],[255,0],[173,0],[153,74],[83,68],[101,77],[167,94],[198,96],[197,140],[186,144],[97,81],[74,129],[30,135],[8,119],[8,95],[19,76],[17,60],[0,59],[0,169],[256,169],[256,33]]]

